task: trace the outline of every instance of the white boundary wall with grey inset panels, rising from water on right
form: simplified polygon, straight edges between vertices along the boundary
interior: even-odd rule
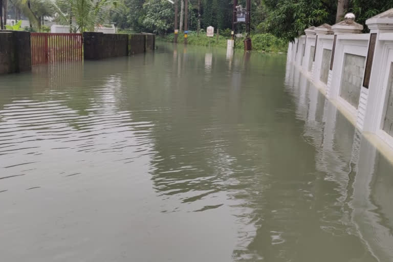
[[[359,132],[379,139],[376,143],[382,150],[393,153],[393,9],[368,19],[366,25],[367,34],[340,31],[340,27],[335,35],[319,34],[311,72],[312,35],[307,36],[305,51],[300,48],[305,36],[290,43],[287,62],[312,81]]]

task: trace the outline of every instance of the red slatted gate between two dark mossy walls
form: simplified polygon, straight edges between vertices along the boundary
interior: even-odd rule
[[[82,34],[31,33],[33,65],[83,59]]]

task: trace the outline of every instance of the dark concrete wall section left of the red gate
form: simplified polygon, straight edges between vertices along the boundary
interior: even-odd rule
[[[31,71],[30,32],[0,32],[0,74]]]

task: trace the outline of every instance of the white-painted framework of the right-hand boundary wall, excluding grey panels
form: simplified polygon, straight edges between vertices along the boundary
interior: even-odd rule
[[[310,59],[315,35],[302,35],[291,42],[288,47],[287,61],[295,67],[324,94],[337,108],[364,134],[383,141],[385,149],[393,150],[393,137],[383,130],[387,100],[392,85],[393,75],[393,9],[370,18],[366,22],[369,34],[337,34],[333,57],[333,69],[329,70],[328,83],[320,80],[323,49],[332,50],[334,35],[318,35],[315,48],[315,61]],[[345,54],[365,57],[367,61],[370,35],[376,34],[374,59],[371,65],[368,88],[359,85],[360,98],[358,106],[353,106],[340,96],[344,72]],[[305,43],[305,48],[303,45]],[[297,51],[297,52],[296,52]],[[309,62],[312,70],[309,72]],[[359,65],[362,68],[365,65]],[[359,75],[360,72],[357,72]],[[363,76],[365,72],[361,73]],[[359,80],[359,79],[357,79]],[[357,81],[359,82],[359,81]],[[390,114],[390,113],[389,113]],[[390,115],[389,115],[390,116]],[[386,145],[388,147],[386,147]]]

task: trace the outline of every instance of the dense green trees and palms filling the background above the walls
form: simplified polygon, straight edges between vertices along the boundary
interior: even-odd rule
[[[186,0],[177,1],[179,20],[181,3],[184,4],[184,1]],[[230,36],[233,0],[187,1],[190,31],[197,30],[200,15],[202,29],[213,26],[220,29],[223,35]],[[75,21],[75,29],[81,30],[91,30],[94,25],[110,22],[117,23],[120,30],[127,32],[166,35],[174,29],[174,5],[168,0],[3,0],[4,2],[10,7],[15,6],[38,30],[41,30],[40,19],[43,16],[55,16],[62,24],[69,24],[71,18]],[[292,40],[310,26],[335,24],[336,15],[339,14],[338,6],[342,10],[342,2],[345,2],[345,12],[354,12],[356,21],[360,24],[364,24],[367,18],[393,8],[392,0],[252,0],[252,34],[268,33]],[[238,0],[238,4],[245,7],[246,0]],[[340,19],[341,15],[337,17]],[[237,33],[244,30],[244,25],[236,27]]]

